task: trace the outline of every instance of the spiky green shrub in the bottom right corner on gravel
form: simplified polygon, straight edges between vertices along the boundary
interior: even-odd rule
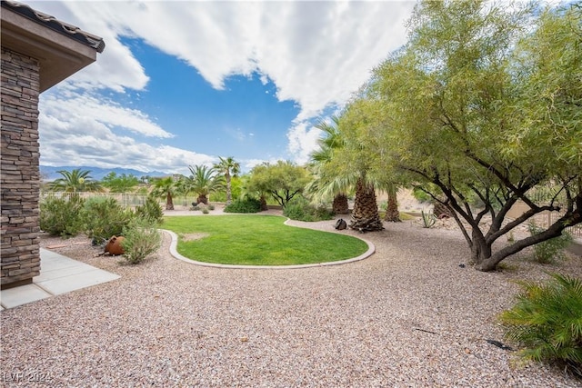
[[[522,292],[499,319],[506,338],[525,346],[524,360],[558,362],[580,375],[582,368],[582,281],[550,274],[545,284],[519,282]]]

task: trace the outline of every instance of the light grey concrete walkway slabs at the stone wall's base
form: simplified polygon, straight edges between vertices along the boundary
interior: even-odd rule
[[[40,264],[40,275],[33,278],[33,284],[21,285],[0,292],[0,311],[91,285],[110,282],[120,277],[42,248]]]

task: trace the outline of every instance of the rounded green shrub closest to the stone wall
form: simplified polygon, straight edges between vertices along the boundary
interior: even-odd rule
[[[85,200],[78,195],[70,198],[49,197],[40,204],[40,228],[47,234],[71,236],[83,230],[82,210]]]

